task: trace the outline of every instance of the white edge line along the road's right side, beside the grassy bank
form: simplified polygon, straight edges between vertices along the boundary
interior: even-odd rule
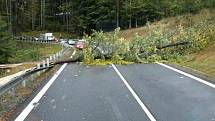
[[[186,72],[183,72],[183,71],[181,71],[181,70],[178,70],[178,69],[176,69],[176,68],[173,68],[173,67],[168,66],[168,65],[166,65],[166,64],[159,63],[159,62],[156,62],[156,63],[159,64],[159,65],[161,65],[161,66],[163,66],[163,67],[166,67],[166,68],[168,68],[168,69],[170,69],[170,70],[173,70],[173,71],[175,71],[175,72],[178,72],[178,73],[180,73],[180,74],[182,74],[182,75],[185,75],[185,76],[187,76],[187,77],[190,77],[190,78],[192,78],[192,79],[194,79],[194,80],[196,80],[196,81],[198,81],[198,82],[201,82],[201,83],[203,83],[203,84],[205,84],[205,85],[207,85],[207,86],[210,86],[210,87],[212,87],[212,88],[215,88],[215,85],[212,84],[212,83],[210,83],[210,82],[208,82],[208,81],[205,81],[205,80],[203,80],[203,79],[200,79],[200,78],[198,78],[198,77],[196,77],[196,76],[193,76],[193,75],[191,75],[191,74],[188,74],[188,73],[186,73]]]

